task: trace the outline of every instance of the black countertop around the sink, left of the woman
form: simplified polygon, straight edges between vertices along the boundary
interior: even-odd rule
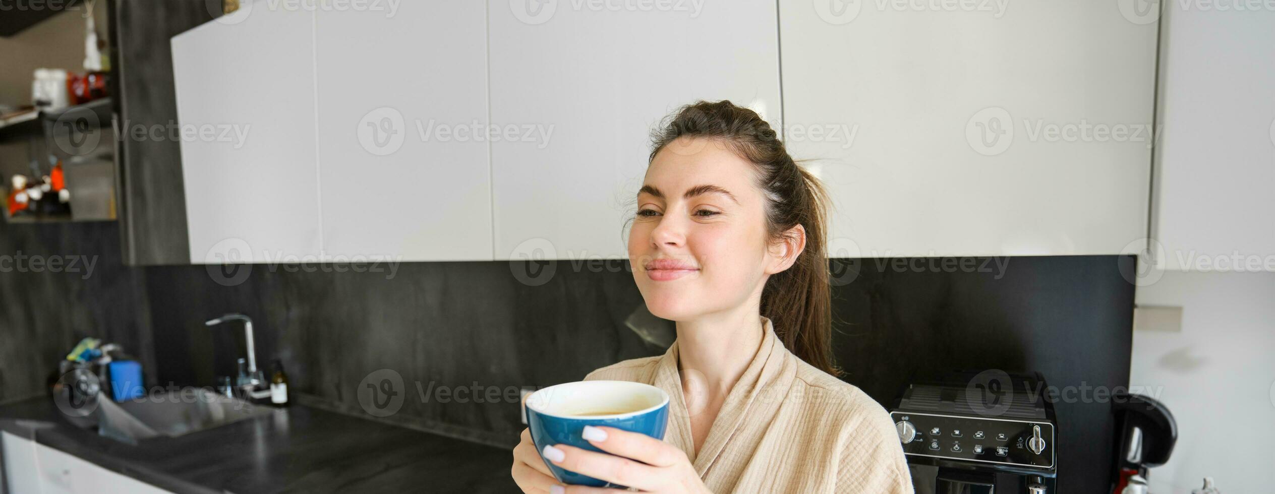
[[[519,491],[507,449],[301,405],[129,446],[40,397],[0,406],[0,429],[178,494]]]

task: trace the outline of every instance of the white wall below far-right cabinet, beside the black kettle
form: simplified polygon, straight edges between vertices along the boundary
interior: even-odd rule
[[[1139,306],[1182,307],[1182,331],[1135,331],[1130,382],[1160,391],[1178,423],[1151,491],[1190,493],[1213,476],[1223,493],[1275,485],[1275,272],[1164,271]]]

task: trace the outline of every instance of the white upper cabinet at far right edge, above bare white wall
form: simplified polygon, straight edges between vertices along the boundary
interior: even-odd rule
[[[1155,265],[1275,271],[1275,11],[1177,5],[1162,20]]]

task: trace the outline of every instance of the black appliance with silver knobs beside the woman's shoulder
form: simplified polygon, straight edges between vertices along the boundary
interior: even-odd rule
[[[1057,494],[1058,421],[1040,373],[954,372],[890,410],[918,494]]]

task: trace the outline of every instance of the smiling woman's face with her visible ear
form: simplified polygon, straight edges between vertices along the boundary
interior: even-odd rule
[[[634,280],[653,314],[687,321],[737,308],[792,264],[785,248],[766,246],[755,173],[715,140],[678,138],[655,154],[629,233]]]

